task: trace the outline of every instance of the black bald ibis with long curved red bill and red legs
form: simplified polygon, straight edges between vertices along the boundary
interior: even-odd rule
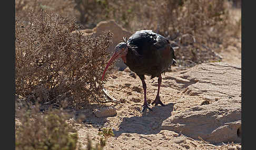
[[[107,66],[103,72],[104,74],[111,65],[111,63],[117,59],[122,58],[124,63],[135,72],[142,81],[144,90],[144,110],[152,109],[149,107],[146,101],[146,83],[144,75],[151,76],[151,79],[158,77],[158,88],[155,100],[151,104],[164,104],[160,101],[160,87],[162,82],[161,74],[171,67],[176,66],[176,58],[174,50],[170,45],[170,42],[165,37],[154,33],[152,30],[140,30],[136,31],[128,40],[123,38],[123,41],[116,45],[115,52],[112,58],[107,63]]]

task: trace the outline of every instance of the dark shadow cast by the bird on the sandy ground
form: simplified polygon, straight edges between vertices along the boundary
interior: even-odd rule
[[[114,130],[115,137],[122,133],[157,134],[161,131],[164,120],[172,115],[174,103],[165,106],[153,106],[152,111],[144,112],[141,116],[123,117],[119,130]]]

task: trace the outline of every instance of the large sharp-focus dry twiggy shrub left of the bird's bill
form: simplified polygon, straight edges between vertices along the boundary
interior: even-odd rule
[[[75,20],[42,11],[16,18],[16,94],[40,103],[82,108],[103,97],[101,75],[112,33],[84,37]],[[106,74],[107,75],[107,74]]]

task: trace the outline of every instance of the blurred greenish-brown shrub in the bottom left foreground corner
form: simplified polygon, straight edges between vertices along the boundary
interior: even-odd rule
[[[16,109],[15,149],[81,149],[77,131],[66,122],[61,110],[40,113],[33,109]]]

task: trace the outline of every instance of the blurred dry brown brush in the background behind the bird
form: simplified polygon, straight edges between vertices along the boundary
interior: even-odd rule
[[[93,17],[86,18],[88,22],[115,19],[132,32],[152,29],[168,37],[174,46],[180,47],[176,50],[180,66],[190,67],[197,63],[220,61],[221,57],[215,50],[220,49],[220,44],[229,45],[228,39],[239,33],[239,23],[231,23],[229,10],[232,6],[229,1],[76,1],[76,7],[82,4],[84,9],[78,10],[80,14],[85,11],[94,13],[91,15]],[[92,11],[97,8],[101,11]],[[80,19],[82,18],[83,16]]]

